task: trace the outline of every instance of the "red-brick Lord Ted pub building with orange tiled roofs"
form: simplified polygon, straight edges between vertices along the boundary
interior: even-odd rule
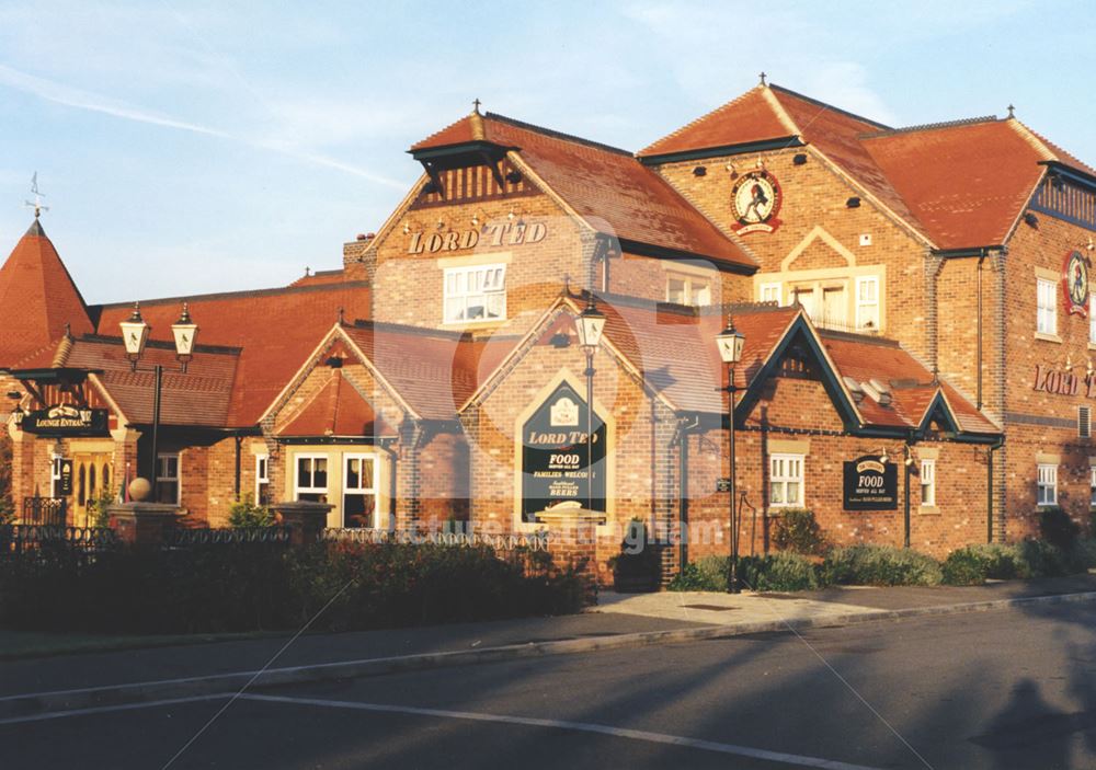
[[[936,555],[1040,506],[1087,519],[1096,171],[1012,114],[895,129],[762,83],[638,153],[478,110],[410,152],[423,175],[341,268],[141,300],[142,368],[174,366],[183,301],[199,327],[155,461],[133,304],[87,304],[35,220],[0,269],[16,512],[81,525],[153,474],[194,526],[249,494],[400,530],[592,504],[601,562],[639,518],[673,570],[728,552],[730,315],[740,552],[791,507]]]

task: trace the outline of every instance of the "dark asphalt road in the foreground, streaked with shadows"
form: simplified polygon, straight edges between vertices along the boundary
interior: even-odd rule
[[[226,704],[0,724],[0,768],[1093,768],[1096,606],[317,682]]]

